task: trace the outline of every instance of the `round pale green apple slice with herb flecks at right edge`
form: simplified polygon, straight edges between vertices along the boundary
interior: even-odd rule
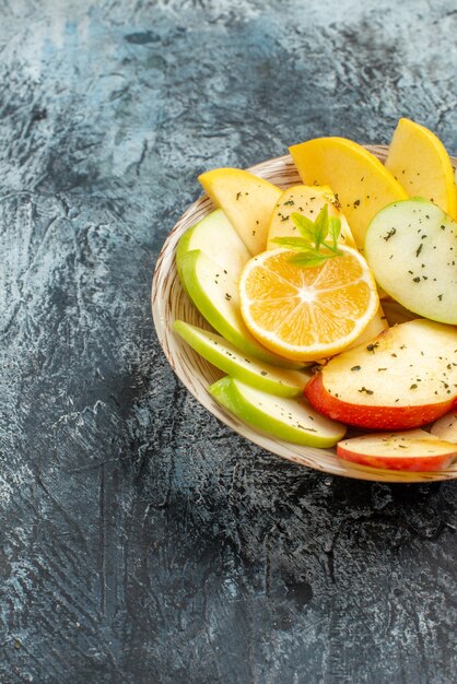
[[[366,231],[376,281],[405,308],[457,323],[457,223],[426,200],[394,202]]]

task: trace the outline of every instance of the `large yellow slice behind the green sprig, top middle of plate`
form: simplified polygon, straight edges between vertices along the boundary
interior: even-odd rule
[[[359,249],[373,216],[408,197],[374,154],[345,138],[316,138],[293,145],[290,153],[304,184],[331,187]]]

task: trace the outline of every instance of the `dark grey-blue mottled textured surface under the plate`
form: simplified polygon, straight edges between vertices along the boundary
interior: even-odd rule
[[[398,116],[457,153],[453,0],[0,2],[0,682],[456,681],[456,484],[281,461],[150,280],[202,169]]]

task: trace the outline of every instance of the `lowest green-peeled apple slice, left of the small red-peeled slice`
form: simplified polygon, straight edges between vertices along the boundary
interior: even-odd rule
[[[304,399],[285,399],[254,389],[230,376],[209,388],[227,411],[269,435],[309,447],[332,447],[345,426],[319,415]]]

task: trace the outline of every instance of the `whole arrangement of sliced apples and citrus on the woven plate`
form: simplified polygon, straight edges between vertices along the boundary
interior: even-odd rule
[[[208,391],[257,431],[363,467],[457,458],[457,190],[424,127],[385,164],[342,138],[290,149],[302,184],[242,169],[199,180],[215,209],[176,267],[211,330],[175,333],[224,377]]]

